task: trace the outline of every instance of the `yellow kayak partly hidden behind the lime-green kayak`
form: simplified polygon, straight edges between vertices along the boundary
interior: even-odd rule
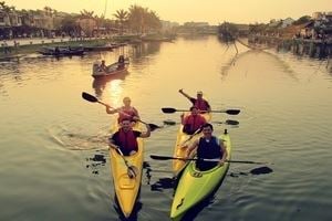
[[[190,114],[190,112],[186,112],[184,117],[188,116],[189,114]],[[205,113],[205,114],[201,114],[201,116],[204,116],[206,122],[210,122],[211,117],[212,117],[211,113]],[[201,136],[201,133],[196,134],[194,136],[187,135],[187,134],[183,133],[183,129],[184,129],[184,125],[180,125],[180,127],[177,131],[173,157],[180,157],[180,158],[186,157],[187,148],[184,146],[191,145],[195,139],[197,139],[198,137]],[[177,176],[185,166],[186,166],[186,161],[179,160],[179,159],[174,159],[173,160],[174,175]]]

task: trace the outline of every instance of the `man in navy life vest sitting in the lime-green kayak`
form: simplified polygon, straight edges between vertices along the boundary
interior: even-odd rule
[[[211,124],[201,126],[203,137],[195,140],[187,149],[187,157],[193,158],[196,154],[197,169],[205,171],[216,166],[222,166],[227,158],[226,145],[218,137],[212,136],[214,127]],[[220,159],[219,161],[205,161],[199,159]]]

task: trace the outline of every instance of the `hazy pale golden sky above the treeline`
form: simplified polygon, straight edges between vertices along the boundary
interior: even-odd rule
[[[76,12],[85,9],[114,19],[116,10],[137,4],[155,11],[162,20],[179,22],[224,21],[235,23],[267,23],[271,19],[299,19],[313,12],[332,12],[332,0],[4,0],[17,9],[43,9]],[[105,6],[106,10],[105,10]]]

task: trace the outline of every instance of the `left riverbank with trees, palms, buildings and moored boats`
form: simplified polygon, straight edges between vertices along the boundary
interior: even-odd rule
[[[17,10],[0,1],[0,60],[44,49],[96,51],[108,48],[112,51],[113,46],[127,43],[172,41],[174,33],[172,22],[162,21],[155,11],[136,4],[116,10],[110,19],[85,9],[80,13],[50,7]]]

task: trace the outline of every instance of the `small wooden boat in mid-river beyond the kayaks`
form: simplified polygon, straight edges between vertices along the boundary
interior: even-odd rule
[[[100,64],[94,63],[92,67],[92,76],[93,77],[101,77],[101,76],[114,76],[118,74],[123,74],[127,72],[129,65],[129,60],[125,59],[123,64],[115,62],[106,67],[106,71],[100,70]]]

